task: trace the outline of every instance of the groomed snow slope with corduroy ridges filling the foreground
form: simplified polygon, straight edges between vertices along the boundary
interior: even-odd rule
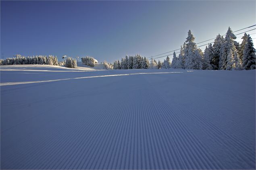
[[[256,168],[255,70],[0,70],[1,169]]]

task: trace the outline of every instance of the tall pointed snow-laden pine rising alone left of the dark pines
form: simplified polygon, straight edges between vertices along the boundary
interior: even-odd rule
[[[194,69],[195,51],[197,49],[196,43],[194,41],[195,41],[195,37],[189,30],[188,36],[186,38],[186,46],[184,49],[186,69]]]

